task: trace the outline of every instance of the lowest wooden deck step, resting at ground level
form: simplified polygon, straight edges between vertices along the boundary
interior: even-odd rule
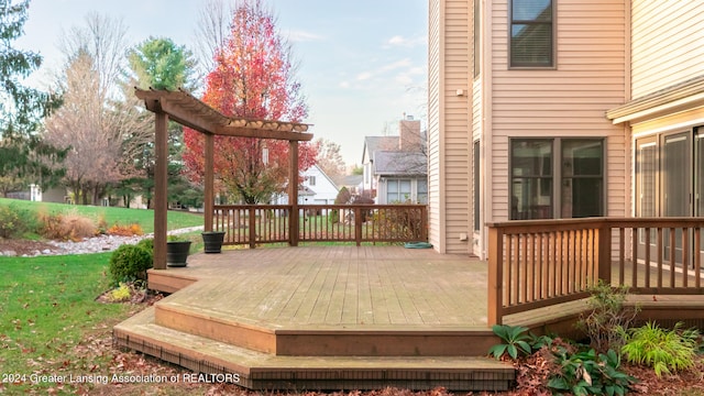
[[[116,344],[195,373],[252,389],[376,389],[396,386],[449,391],[506,391],[512,365],[477,356],[312,356],[253,351],[155,323],[155,308],[116,326]]]

